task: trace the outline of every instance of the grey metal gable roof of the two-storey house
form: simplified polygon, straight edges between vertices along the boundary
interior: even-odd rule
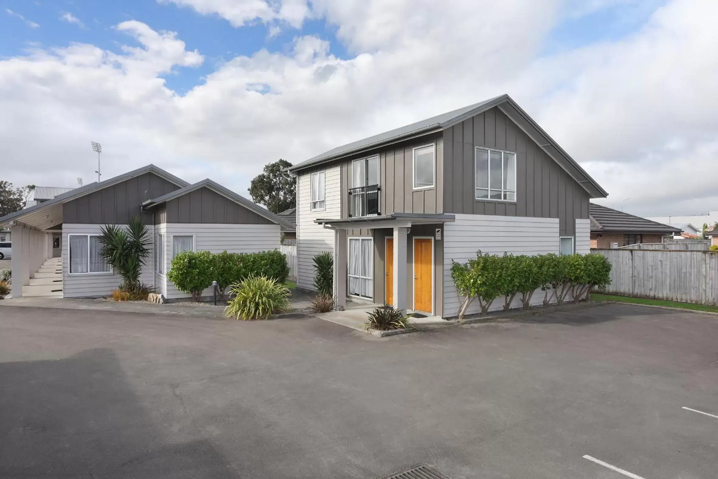
[[[426,118],[426,120],[417,121],[416,123],[402,126],[398,129],[386,131],[384,133],[370,136],[368,138],[354,141],[350,144],[345,144],[335,149],[330,149],[328,152],[324,152],[316,157],[307,159],[304,162],[295,164],[293,167],[289,167],[289,171],[296,172],[300,169],[321,164],[324,162],[331,161],[332,159],[338,159],[345,157],[349,154],[362,152],[371,148],[380,147],[385,144],[391,144],[392,142],[400,141],[402,139],[409,139],[414,136],[421,136],[429,134],[434,131],[440,131],[447,129],[450,126],[464,121],[467,118],[475,116],[483,111],[490,110],[494,107],[499,107],[503,113],[506,114],[519,128],[528,134],[528,136],[544,149],[546,154],[554,159],[584,190],[589,192],[591,197],[607,197],[608,193],[592,178],[588,173],[574,160],[544,129],[539,126],[536,121],[528,116],[526,111],[518,106],[513,98],[508,94],[496,96],[486,101],[474,103],[458,110],[449,111],[441,115],[432,116],[432,118]]]

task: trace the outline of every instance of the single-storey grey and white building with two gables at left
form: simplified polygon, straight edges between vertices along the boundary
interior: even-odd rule
[[[212,180],[188,184],[146,167],[75,188],[0,218],[12,231],[12,295],[103,297],[121,277],[100,256],[103,225],[147,225],[151,256],[140,280],[167,299],[189,297],[167,280],[182,251],[253,253],[279,248],[289,224]]]

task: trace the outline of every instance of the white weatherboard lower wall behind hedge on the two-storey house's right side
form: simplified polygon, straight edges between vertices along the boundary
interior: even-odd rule
[[[457,214],[454,223],[444,223],[444,317],[455,317],[462,298],[457,294],[451,277],[452,260],[465,263],[477,251],[502,255],[547,254],[559,252],[559,218],[526,218],[518,216]],[[535,293],[532,304],[541,304],[543,297]],[[503,297],[496,298],[491,310],[503,307]],[[512,307],[521,307],[514,298]],[[481,311],[476,299],[467,315]]]

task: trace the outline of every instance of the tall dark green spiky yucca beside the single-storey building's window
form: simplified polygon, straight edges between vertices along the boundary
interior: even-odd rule
[[[101,256],[122,276],[125,291],[139,289],[142,265],[149,256],[147,226],[134,216],[130,218],[126,229],[118,225],[104,225],[101,232]]]

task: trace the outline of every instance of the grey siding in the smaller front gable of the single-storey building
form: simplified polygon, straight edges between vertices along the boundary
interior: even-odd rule
[[[169,200],[165,209],[164,223],[274,224],[207,187]]]

